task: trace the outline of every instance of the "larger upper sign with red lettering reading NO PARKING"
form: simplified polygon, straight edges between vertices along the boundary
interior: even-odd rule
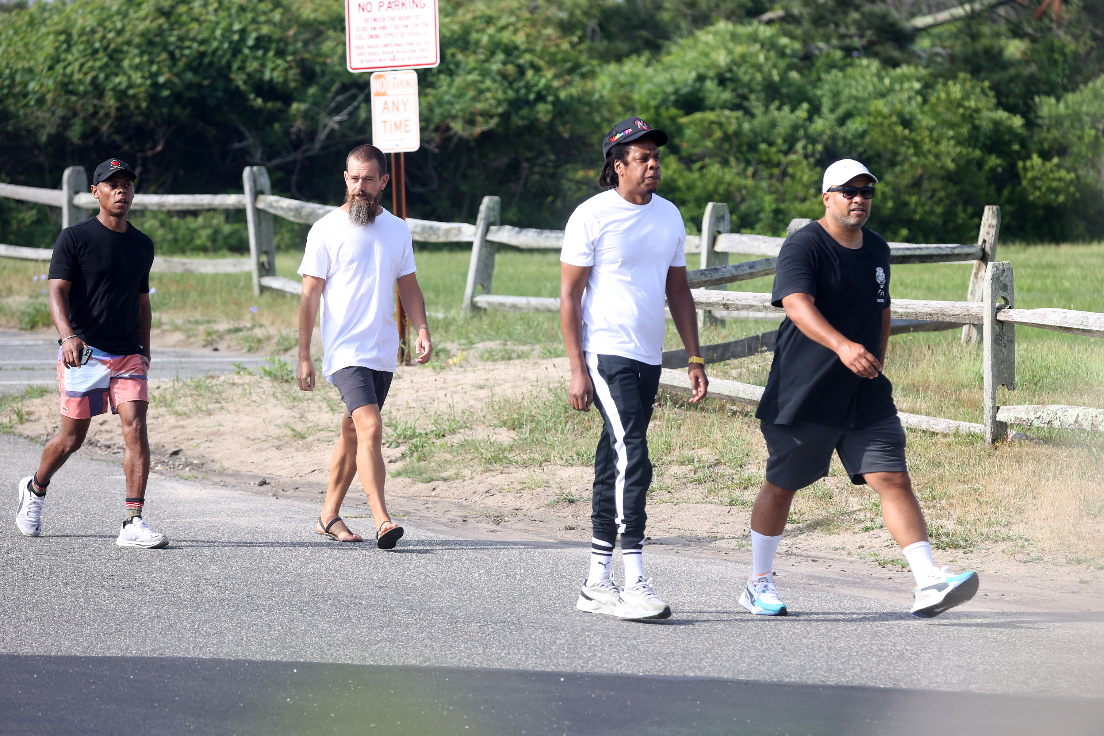
[[[346,63],[350,72],[439,64],[437,0],[346,0]]]

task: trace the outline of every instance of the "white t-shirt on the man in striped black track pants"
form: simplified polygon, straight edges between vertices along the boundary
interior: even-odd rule
[[[591,267],[583,292],[584,351],[664,362],[667,270],[687,265],[686,239],[678,207],[658,194],[639,205],[611,189],[575,209],[560,260]]]

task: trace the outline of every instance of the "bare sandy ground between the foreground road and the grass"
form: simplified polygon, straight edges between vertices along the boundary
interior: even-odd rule
[[[478,416],[493,396],[518,395],[567,376],[566,359],[465,361],[439,370],[400,367],[383,414],[390,422],[424,422],[434,413]],[[152,472],[321,503],[343,408],[331,386],[321,385],[310,395],[286,385],[275,387],[273,382],[257,376],[224,376],[199,391],[180,392],[166,383],[153,383],[150,388]],[[182,397],[182,393],[187,396]],[[55,396],[29,402],[24,412],[25,420],[15,425],[17,433],[45,440],[57,430]],[[475,426],[463,433],[478,437],[507,430]],[[120,461],[118,419],[110,415],[97,417],[81,451]],[[402,467],[402,451],[384,447],[389,468]],[[459,470],[456,480],[427,483],[389,478],[392,515],[463,536],[577,544],[583,575],[590,537],[591,468],[544,465],[506,472]],[[567,492],[581,501],[564,501]],[[343,516],[353,531],[371,538],[369,515],[363,489],[359,481],[354,482]],[[648,543],[657,552],[733,555],[750,563],[747,509],[683,502],[676,495],[671,502],[650,503],[648,516]],[[314,525],[304,520],[304,526],[310,530]],[[892,565],[882,566],[869,556],[871,553],[882,558],[898,557],[899,548],[884,529],[831,535],[795,530],[783,540],[777,572],[784,579],[787,568],[814,567],[826,585],[861,582],[871,595],[890,596],[900,605],[902,588],[912,585],[911,574]],[[983,593],[977,601],[980,606],[1104,610],[1101,572],[1066,564],[1057,555],[1025,563],[1004,553],[1000,545],[991,545],[969,553],[940,551],[936,561],[983,575]]]

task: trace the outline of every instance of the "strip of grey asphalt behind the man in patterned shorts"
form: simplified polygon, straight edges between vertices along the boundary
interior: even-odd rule
[[[212,350],[155,346],[150,365],[152,381],[222,375],[234,372],[234,363],[251,369],[264,363],[264,355],[242,355]],[[0,330],[0,394],[21,392],[30,385],[57,387],[57,337],[53,332]]]

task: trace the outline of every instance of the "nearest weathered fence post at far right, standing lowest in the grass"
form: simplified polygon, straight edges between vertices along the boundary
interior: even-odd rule
[[[1016,390],[1016,326],[997,321],[997,311],[1011,309],[1016,305],[1012,264],[1000,260],[986,266],[983,301],[985,441],[995,445],[1008,437],[1008,424],[997,422],[997,409],[1000,408],[997,404],[997,386],[1004,384],[1009,391]]]

